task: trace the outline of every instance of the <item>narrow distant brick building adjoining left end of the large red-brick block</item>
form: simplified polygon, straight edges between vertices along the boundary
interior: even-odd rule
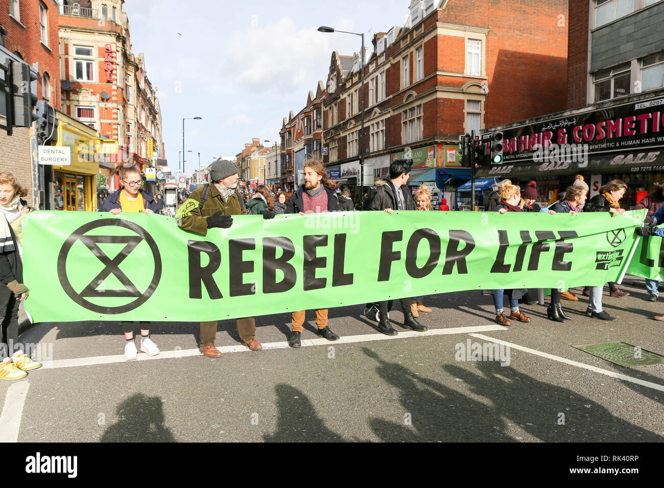
[[[281,188],[292,191],[297,184],[298,171],[304,171],[304,161],[310,157],[322,158],[323,99],[325,86],[318,82],[316,93],[309,92],[305,107],[296,116],[291,111],[284,118],[279,135],[282,139],[280,181]],[[299,181],[299,183],[298,183]]]

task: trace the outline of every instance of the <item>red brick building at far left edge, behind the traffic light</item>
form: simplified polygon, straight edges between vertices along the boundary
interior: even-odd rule
[[[54,0],[9,0],[0,5],[0,25],[5,31],[0,62],[9,56],[24,61],[38,74],[33,82],[39,100],[60,107],[60,54],[58,51],[58,4]],[[0,123],[5,124],[5,100],[0,99]],[[10,171],[29,189],[29,205],[39,200],[40,168],[37,164],[35,129],[14,127],[13,135],[0,131],[0,170]]]

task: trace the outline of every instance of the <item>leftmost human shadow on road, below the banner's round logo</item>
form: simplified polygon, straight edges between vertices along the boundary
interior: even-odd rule
[[[162,406],[158,396],[131,395],[116,408],[120,420],[104,431],[100,442],[176,442],[164,426]]]

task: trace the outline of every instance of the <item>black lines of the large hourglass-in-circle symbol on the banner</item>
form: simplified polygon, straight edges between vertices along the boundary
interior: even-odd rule
[[[124,227],[133,230],[136,235],[86,235],[90,230],[106,226]],[[76,292],[74,287],[70,284],[66,269],[69,251],[77,240],[80,240],[85,244],[92,254],[104,264],[104,270],[92,278],[90,283],[80,293]],[[139,291],[129,278],[127,278],[127,276],[120,270],[120,263],[122,263],[122,261],[129,256],[129,253],[133,251],[136,246],[141,244],[143,240],[147,242],[147,245],[152,252],[155,262],[155,272],[152,276],[150,285],[145,291],[143,291],[143,293],[141,293],[141,291]],[[106,256],[106,253],[101,250],[98,244],[125,244],[125,246],[118,256],[110,259]],[[124,285],[125,289],[98,290],[97,287],[102,284],[104,279],[110,274],[113,274],[118,278],[120,283]],[[62,286],[62,289],[64,289],[64,292],[67,293],[74,302],[78,303],[78,305],[88,310],[105,313],[107,315],[124,313],[143,305],[143,303],[152,296],[155,289],[157,289],[157,285],[161,279],[161,255],[159,254],[159,249],[157,248],[155,240],[141,226],[127,220],[102,218],[101,220],[88,222],[88,224],[80,226],[64,241],[62,248],[60,248],[60,254],[58,254],[58,279],[60,280],[60,285]],[[95,303],[86,300],[85,297],[135,297],[135,299],[118,307],[102,307],[101,305],[96,305]]]

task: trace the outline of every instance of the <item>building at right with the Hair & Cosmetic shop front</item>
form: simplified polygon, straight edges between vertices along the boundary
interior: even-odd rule
[[[503,131],[505,164],[478,175],[535,179],[542,203],[576,174],[591,197],[622,179],[627,209],[664,181],[664,1],[574,1],[569,19],[567,110],[494,127]],[[533,142],[548,138],[570,150],[587,145],[584,158],[542,161]]]

